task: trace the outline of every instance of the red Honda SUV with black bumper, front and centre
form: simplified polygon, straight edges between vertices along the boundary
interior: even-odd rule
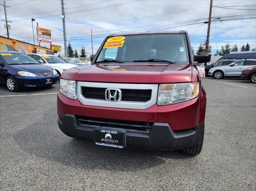
[[[90,65],[65,71],[58,125],[100,146],[202,150],[206,93],[188,33],[139,32],[106,37]]]

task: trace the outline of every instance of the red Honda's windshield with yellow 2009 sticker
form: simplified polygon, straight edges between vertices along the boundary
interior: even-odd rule
[[[185,34],[146,34],[110,37],[104,43],[97,62],[152,61],[161,59],[189,63]],[[154,60],[162,62],[160,60]]]

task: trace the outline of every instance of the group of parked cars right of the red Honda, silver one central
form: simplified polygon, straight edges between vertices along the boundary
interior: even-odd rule
[[[220,60],[205,66],[205,73],[215,79],[241,77],[256,83],[256,59]]]

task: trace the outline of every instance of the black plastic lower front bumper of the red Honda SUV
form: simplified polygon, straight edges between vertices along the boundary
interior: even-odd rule
[[[100,123],[99,123],[100,124]],[[74,138],[94,142],[94,129],[120,131],[123,129],[101,125],[81,124],[79,116],[65,114],[58,118],[60,130]],[[125,129],[127,148],[146,150],[179,150],[196,144],[204,132],[204,123],[186,131],[174,131],[167,123],[152,123],[150,130]]]

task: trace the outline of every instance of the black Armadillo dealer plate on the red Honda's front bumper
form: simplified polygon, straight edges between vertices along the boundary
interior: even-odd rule
[[[124,148],[125,132],[96,129],[94,130],[94,143],[96,145]]]

